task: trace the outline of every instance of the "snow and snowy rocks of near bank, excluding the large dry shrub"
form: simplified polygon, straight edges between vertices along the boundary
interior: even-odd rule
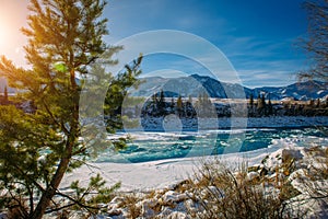
[[[75,180],[86,184],[91,175],[101,173],[108,182],[108,185],[113,185],[118,181],[122,182],[120,192],[124,193],[118,194],[116,198],[105,205],[107,218],[130,218],[129,214],[131,214],[132,209],[129,208],[138,208],[140,210],[138,214],[142,216],[141,218],[189,218],[188,212],[190,209],[195,212],[199,211],[195,207],[195,200],[190,198],[192,189],[179,191],[177,186],[187,185],[184,182],[195,175],[195,171],[199,170],[200,163],[215,161],[219,158],[221,163],[232,169],[236,168],[235,170],[238,170],[237,166],[241,166],[242,163],[246,163],[247,166],[258,166],[256,170],[248,172],[247,178],[249,180],[259,177],[261,171],[266,169],[265,177],[268,178],[268,182],[274,184],[269,186],[268,189],[272,189],[272,192],[278,194],[280,192],[274,186],[278,186],[277,183],[284,181],[280,178],[288,178],[294,189],[298,191],[298,195],[285,203],[292,216],[297,218],[302,214],[304,218],[326,218],[328,217],[327,198],[313,198],[313,195],[317,194],[309,194],[308,187],[308,185],[314,184],[314,188],[327,195],[327,180],[309,180],[317,177],[315,175],[317,174],[316,171],[321,168],[327,170],[327,166],[325,166],[328,163],[327,155],[325,155],[327,150],[324,148],[325,146],[314,145],[311,148],[297,147],[297,141],[291,142],[280,139],[267,149],[220,157],[212,155],[124,164],[93,163],[93,166],[82,166],[66,175],[62,188],[65,189],[70,182]],[[285,173],[283,163],[293,163],[295,170]],[[124,206],[121,203],[129,201],[125,199],[127,198],[125,195],[131,194],[131,192],[138,197],[136,203],[128,203],[127,205],[130,205],[130,207]],[[160,208],[156,206],[160,206]],[[75,218],[79,218],[79,215]],[[98,216],[98,218],[103,218],[103,216]]]

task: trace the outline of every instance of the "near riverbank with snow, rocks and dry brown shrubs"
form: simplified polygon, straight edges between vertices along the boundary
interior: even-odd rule
[[[104,210],[98,218],[187,219],[202,214],[210,215],[209,210],[215,210],[213,207],[220,205],[220,199],[229,195],[236,197],[237,201],[238,198],[245,198],[243,201],[247,205],[254,204],[255,209],[253,208],[253,210],[261,211],[265,210],[261,209],[265,207],[262,204],[271,205],[281,201],[279,206],[281,205],[283,209],[280,209],[279,206],[271,206],[276,208],[273,212],[292,218],[326,218],[328,216],[327,154],[327,146],[304,148],[280,141],[268,149],[220,157],[127,164],[97,163],[92,164],[94,166],[83,166],[72,174],[68,174],[62,186],[67,186],[73,180],[80,180],[82,184],[86,183],[87,177],[96,172],[107,180],[108,185],[121,181],[121,189],[110,203],[102,205]],[[213,186],[216,184],[210,183],[212,180],[204,183],[200,178],[195,178],[195,174],[203,171],[204,163],[210,163],[209,170],[212,171],[215,171],[216,168],[222,170],[222,166],[230,170],[231,172],[223,173],[232,174],[230,176],[232,178],[227,178],[223,183],[232,183],[231,186],[237,183],[236,191],[229,194],[231,192],[226,191],[223,184],[223,187],[220,187],[220,184],[216,187]],[[239,188],[248,189],[243,187],[244,183],[251,189],[248,191],[250,195],[245,195],[245,197],[234,195],[239,192]],[[219,199],[216,199],[219,197],[216,191],[222,194]],[[256,194],[254,193],[259,196],[255,198]],[[281,199],[281,197],[283,198]],[[206,200],[208,209],[202,206],[203,200]],[[211,204],[211,201],[214,203]],[[234,205],[233,203],[225,204],[227,208],[233,207],[230,205]],[[271,207],[269,207],[270,210],[272,210]],[[71,214],[75,218],[82,215],[81,211]]]

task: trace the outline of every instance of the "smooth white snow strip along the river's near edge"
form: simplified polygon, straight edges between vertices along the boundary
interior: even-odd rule
[[[251,166],[259,164],[268,154],[295,146],[297,146],[297,141],[281,139],[276,140],[269,148],[215,157],[167,159],[142,163],[91,163],[67,174],[61,187],[67,188],[71,182],[77,180],[82,185],[86,185],[90,176],[101,173],[108,185],[121,182],[120,189],[124,192],[159,189],[188,178],[203,161],[220,158],[229,165],[239,165],[242,162],[246,162]]]

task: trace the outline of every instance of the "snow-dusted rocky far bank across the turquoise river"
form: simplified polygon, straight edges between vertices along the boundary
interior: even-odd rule
[[[268,116],[268,117],[220,117],[179,118],[149,117],[139,120],[137,127],[125,126],[126,131],[209,130],[230,128],[278,128],[328,126],[328,116]]]

